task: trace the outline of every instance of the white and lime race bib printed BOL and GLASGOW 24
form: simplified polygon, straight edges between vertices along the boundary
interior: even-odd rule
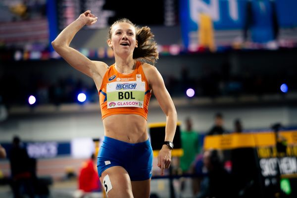
[[[144,107],[146,83],[142,81],[112,82],[106,85],[107,108]]]

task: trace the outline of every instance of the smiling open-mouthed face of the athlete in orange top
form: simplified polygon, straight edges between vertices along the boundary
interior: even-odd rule
[[[111,39],[107,40],[115,54],[133,54],[137,48],[135,28],[128,23],[117,23],[111,29]]]

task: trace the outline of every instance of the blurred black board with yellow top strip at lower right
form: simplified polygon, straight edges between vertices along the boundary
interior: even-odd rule
[[[206,136],[203,148],[222,150],[235,180],[253,181],[262,197],[297,197],[297,131]]]

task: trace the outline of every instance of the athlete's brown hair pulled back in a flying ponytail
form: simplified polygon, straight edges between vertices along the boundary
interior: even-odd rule
[[[109,28],[108,39],[111,39],[111,29],[115,24],[118,23],[128,23],[135,28],[136,31],[136,40],[138,42],[138,48],[135,48],[133,51],[133,59],[139,59],[143,61],[148,61],[155,63],[159,58],[159,52],[157,50],[157,44],[153,41],[154,35],[151,33],[148,26],[137,27],[127,18],[121,18],[115,21]]]

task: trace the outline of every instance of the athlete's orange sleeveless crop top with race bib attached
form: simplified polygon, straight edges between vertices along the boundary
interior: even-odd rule
[[[140,61],[131,74],[121,74],[114,64],[106,71],[99,90],[102,119],[114,114],[138,114],[147,119],[151,90]]]

